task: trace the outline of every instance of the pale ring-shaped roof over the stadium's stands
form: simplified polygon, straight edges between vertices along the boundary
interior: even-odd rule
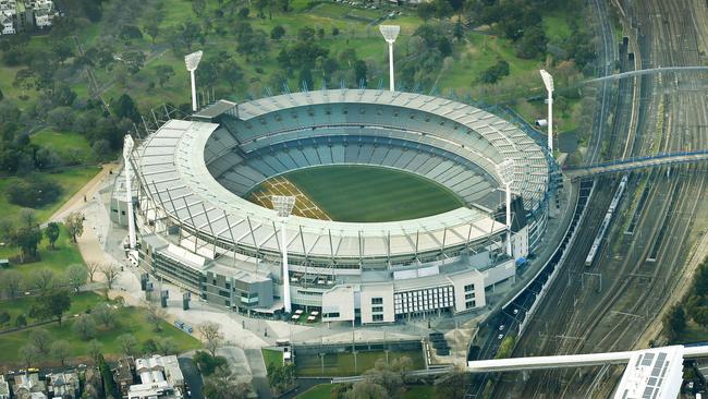
[[[545,194],[548,165],[544,153],[530,138],[490,113],[447,99],[383,90],[325,90],[282,95],[237,106],[219,101],[195,117],[217,122],[222,122],[225,117],[247,123],[271,112],[325,102],[394,105],[427,113],[437,120],[424,119],[415,123],[429,129],[431,134],[444,132],[440,138],[447,141],[451,140],[449,134],[454,131],[454,123],[467,126],[475,132],[474,137],[471,135],[467,140],[491,143],[483,154],[488,159],[485,169],[492,169],[490,174],[497,178],[496,162],[514,159],[512,190],[525,200],[532,197],[529,201],[533,203]],[[307,123],[313,122],[298,122],[301,126]],[[149,193],[173,220],[193,231],[261,252],[280,252],[280,223],[276,213],[237,196],[217,181],[207,168],[205,146],[218,129],[219,123],[184,120],[171,120],[162,125],[134,153],[133,162],[142,190]],[[468,147],[462,145],[462,148]],[[354,223],[291,216],[286,229],[291,254],[368,258],[423,254],[464,245],[501,233],[504,226],[481,210],[463,207],[437,216],[391,222]]]

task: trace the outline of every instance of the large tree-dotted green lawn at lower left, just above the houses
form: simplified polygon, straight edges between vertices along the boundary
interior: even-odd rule
[[[86,294],[76,305],[77,312],[82,311],[83,306],[88,306],[101,301],[97,294]],[[90,297],[93,295],[93,298]],[[74,307],[72,307],[72,312]],[[179,348],[179,352],[200,348],[200,342],[190,336],[188,334],[175,328],[174,326],[162,322],[162,331],[155,332],[152,326],[145,322],[145,314],[142,310],[136,307],[121,307],[118,311],[118,325],[111,330],[100,329],[96,335],[96,339],[103,346],[103,355],[108,359],[115,359],[121,355],[120,347],[117,342],[117,337],[122,334],[132,334],[137,341],[142,344],[148,339],[158,339],[161,337],[170,337],[174,340]],[[61,326],[59,324],[50,324],[42,326],[56,339],[65,339],[70,342],[71,356],[77,358],[76,362],[85,361],[88,353],[88,340],[82,339],[80,336],[72,331],[73,317],[69,317]],[[32,329],[16,331],[3,335],[0,339],[0,353],[2,353],[3,364],[17,364],[21,365],[20,348],[27,342],[27,337]],[[46,362],[42,360],[40,363]]]

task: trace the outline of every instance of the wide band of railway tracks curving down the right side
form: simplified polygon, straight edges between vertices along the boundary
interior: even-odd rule
[[[590,1],[594,3],[595,0]],[[597,0],[601,1],[601,0]],[[691,0],[620,1],[642,55],[644,68],[700,64],[705,62],[697,21],[708,17],[706,7]],[[614,45],[614,44],[613,44]],[[630,107],[617,112],[634,112],[636,130],[615,132],[610,154],[636,157],[660,152],[708,148],[708,84],[706,74],[646,75],[637,77],[638,90],[620,90],[635,96]],[[617,116],[615,116],[617,117]],[[618,118],[619,118],[618,117]],[[624,125],[626,129],[626,125]],[[594,158],[595,154],[589,156]],[[676,278],[689,256],[689,250],[706,232],[708,213],[705,165],[662,167],[645,174],[634,173],[618,215],[607,233],[596,261],[584,264],[597,229],[620,177],[599,178],[588,217],[559,278],[551,286],[538,313],[518,341],[515,356],[587,353],[632,349],[638,337],[661,311],[662,305],[685,279]],[[645,201],[638,201],[647,186]],[[640,208],[638,208],[640,204]],[[637,214],[636,227],[626,234],[627,225]],[[608,397],[622,367],[538,371],[526,375],[499,375],[499,398],[590,398]]]

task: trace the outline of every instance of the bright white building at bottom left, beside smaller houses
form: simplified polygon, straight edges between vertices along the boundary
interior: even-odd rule
[[[129,399],[182,398],[184,376],[175,355],[136,359],[135,372],[141,384],[130,387]]]

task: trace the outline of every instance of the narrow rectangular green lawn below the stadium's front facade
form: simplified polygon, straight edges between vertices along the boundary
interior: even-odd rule
[[[420,351],[391,351],[389,352],[389,362],[402,356],[411,358],[413,370],[425,368],[425,360]],[[295,358],[295,371],[302,377],[359,375],[369,368],[374,368],[374,364],[378,359],[386,359],[386,353],[383,351],[357,352],[355,368],[352,353],[327,354],[325,355],[325,374],[322,374],[319,355],[298,355]]]

